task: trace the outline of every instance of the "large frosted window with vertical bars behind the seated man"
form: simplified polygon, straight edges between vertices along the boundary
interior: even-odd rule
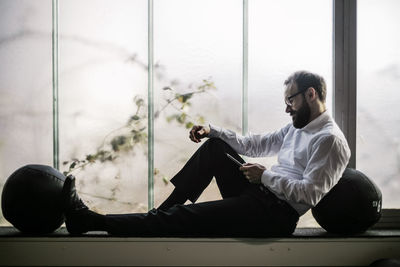
[[[333,114],[346,106],[338,101],[346,96],[333,94],[339,78],[332,73],[340,64],[332,58],[339,51],[335,20],[350,16],[334,15],[335,5],[348,1],[60,1],[58,72],[52,69],[55,2],[0,2],[0,187],[20,166],[52,165],[59,156],[60,170],[79,178],[78,189],[95,210],[144,212],[171,192],[168,180],[197,149],[187,138],[193,123],[237,132],[285,126],[290,118],[283,81],[299,69],[325,77]],[[399,117],[386,108],[398,102],[398,5],[395,0],[358,3],[353,155],[357,168],[381,187],[386,208],[399,207],[394,197],[399,134],[393,127]],[[53,114],[55,72],[59,111]],[[150,118],[148,102],[154,104]],[[354,115],[340,114],[345,114],[337,118],[341,121]],[[59,118],[59,154],[52,151],[53,116]],[[356,130],[344,131],[355,135]],[[380,154],[388,168],[376,160]],[[266,166],[275,160],[251,159]],[[199,201],[217,198],[212,183]],[[0,216],[0,224],[6,223]],[[308,214],[299,226],[317,225]]]

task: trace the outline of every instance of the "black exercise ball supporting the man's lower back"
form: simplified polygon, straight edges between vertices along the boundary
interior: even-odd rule
[[[381,207],[382,193],[376,184],[360,171],[347,168],[312,214],[330,233],[359,234],[380,219]]]

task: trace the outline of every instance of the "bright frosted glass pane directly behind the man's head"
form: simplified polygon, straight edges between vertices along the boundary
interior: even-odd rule
[[[322,75],[332,112],[332,1],[249,1],[249,131],[271,132],[291,123],[284,81],[295,71]],[[267,168],[276,157],[249,159]],[[316,227],[311,213],[299,227]]]

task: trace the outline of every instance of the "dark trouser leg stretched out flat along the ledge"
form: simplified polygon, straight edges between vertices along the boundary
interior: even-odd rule
[[[297,220],[286,202],[252,185],[240,196],[222,200],[107,215],[106,229],[121,236],[274,236],[291,234]]]

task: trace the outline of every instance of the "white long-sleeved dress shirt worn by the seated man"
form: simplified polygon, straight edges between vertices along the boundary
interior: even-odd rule
[[[261,182],[300,216],[338,182],[350,159],[346,138],[326,111],[302,129],[290,123],[272,133],[246,136],[211,124],[210,129],[209,137],[224,140],[238,154],[278,154],[278,163],[264,171]]]

